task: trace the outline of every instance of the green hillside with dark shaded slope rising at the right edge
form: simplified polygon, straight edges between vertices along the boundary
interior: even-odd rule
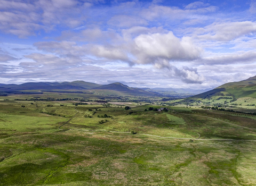
[[[206,91],[202,94],[198,94],[188,98],[189,100],[201,100],[201,99],[229,99],[231,102],[239,98],[254,98],[256,99],[256,76],[249,79],[230,82],[223,84],[213,90]],[[230,101],[229,101],[230,102]]]

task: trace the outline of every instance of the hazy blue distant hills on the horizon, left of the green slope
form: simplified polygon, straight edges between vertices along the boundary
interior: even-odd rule
[[[33,91],[36,90],[36,91]],[[39,92],[37,91],[39,90]],[[98,90],[97,94],[108,95],[131,95],[131,96],[167,96],[173,98],[186,98],[193,96],[197,92],[204,90],[193,89],[174,89],[174,88],[132,88],[125,84],[116,82],[111,84],[97,84],[85,81],[73,82],[28,82],[23,84],[0,84],[1,94],[38,94],[42,91],[55,92],[84,92],[90,90],[90,93]],[[99,91],[100,90],[100,91]],[[108,91],[102,91],[108,90]],[[29,93],[30,92],[30,93]]]

